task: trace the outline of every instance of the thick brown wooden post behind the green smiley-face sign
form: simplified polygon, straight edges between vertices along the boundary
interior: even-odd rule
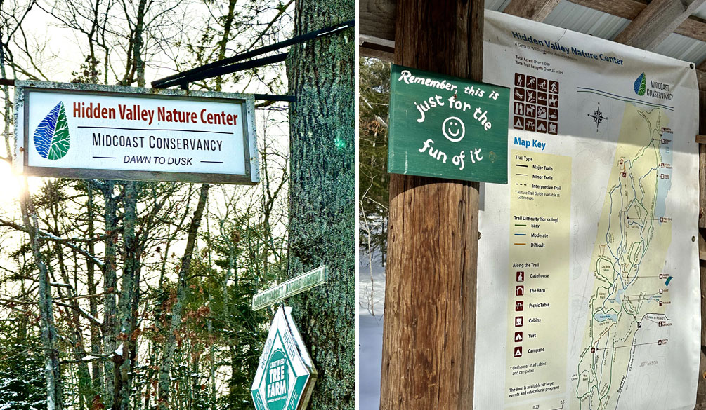
[[[480,81],[484,1],[397,1],[395,63]],[[472,409],[478,184],[391,175],[381,410]]]

